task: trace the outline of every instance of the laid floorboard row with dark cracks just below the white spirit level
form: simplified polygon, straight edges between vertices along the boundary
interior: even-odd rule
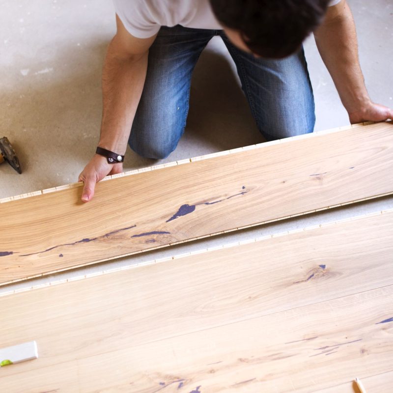
[[[315,392],[392,369],[392,327],[378,324],[392,314],[392,295],[390,286],[82,359],[69,354],[0,383],[10,393]]]

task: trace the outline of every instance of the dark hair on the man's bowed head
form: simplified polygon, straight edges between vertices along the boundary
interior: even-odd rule
[[[282,58],[297,52],[321,23],[329,0],[210,0],[216,18],[238,30],[256,55]]]

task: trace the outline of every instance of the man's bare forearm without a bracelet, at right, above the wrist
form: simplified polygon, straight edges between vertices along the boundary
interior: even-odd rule
[[[341,12],[325,21],[314,36],[348,113],[367,106],[370,99],[359,64],[356,29],[349,6],[344,3]]]

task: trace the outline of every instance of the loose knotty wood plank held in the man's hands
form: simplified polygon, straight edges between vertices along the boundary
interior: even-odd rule
[[[0,204],[0,283],[393,192],[393,124],[302,136]]]

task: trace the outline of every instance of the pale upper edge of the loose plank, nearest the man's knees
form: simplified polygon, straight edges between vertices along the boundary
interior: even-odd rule
[[[117,173],[117,174],[114,174],[114,175],[106,176],[101,181],[112,180],[112,179],[116,179],[118,177],[131,176],[131,175],[142,173],[142,172],[147,172],[147,171],[152,171],[152,170],[157,170],[157,169],[163,169],[163,168],[168,168],[168,167],[174,167],[174,166],[183,165],[183,164],[190,164],[190,163],[197,162],[197,161],[207,160],[209,158],[226,156],[226,155],[230,155],[230,154],[239,153],[239,152],[242,152],[242,151],[269,147],[269,146],[272,146],[272,145],[275,145],[275,144],[279,144],[279,143],[287,143],[287,142],[291,142],[293,140],[302,140],[302,139],[308,139],[308,138],[315,138],[315,137],[318,137],[318,136],[321,136],[321,135],[332,134],[332,133],[335,133],[335,132],[350,130],[352,128],[359,128],[359,127],[367,126],[367,125],[371,125],[371,124],[375,124],[375,122],[367,121],[367,122],[363,122],[363,123],[351,124],[349,126],[336,127],[336,128],[331,128],[331,129],[328,129],[328,130],[316,131],[316,132],[313,132],[313,133],[302,134],[302,135],[296,135],[294,137],[289,137],[289,138],[284,138],[284,139],[279,139],[279,140],[272,140],[272,141],[269,141],[269,142],[257,143],[257,144],[253,144],[253,145],[250,145],[250,146],[237,147],[237,148],[234,148],[234,149],[229,149],[229,150],[225,150],[225,151],[221,151],[221,152],[217,152],[217,153],[205,154],[205,155],[202,155],[202,156],[197,156],[197,157],[194,157],[194,158],[188,158],[188,159],[184,159],[184,160],[173,161],[173,162],[166,163],[166,164],[159,164],[159,165],[156,165],[156,166],[153,166],[153,167],[145,167],[145,168],[125,171],[125,172],[122,172],[122,173]],[[53,193],[53,192],[56,192],[56,191],[62,191],[62,190],[68,190],[68,189],[71,189],[71,188],[82,187],[82,185],[83,185],[82,182],[70,183],[70,184],[65,184],[65,185],[62,185],[62,186],[56,186],[56,187],[47,188],[47,189],[44,189],[44,190],[41,190],[41,191],[34,191],[34,192],[26,193],[26,194],[20,194],[20,195],[14,196],[14,197],[5,197],[5,198],[1,198],[0,199],[0,203],[12,202],[13,200],[25,199],[25,198],[29,198],[29,197],[36,197],[36,196],[39,196],[39,195],[49,194],[49,193]]]

